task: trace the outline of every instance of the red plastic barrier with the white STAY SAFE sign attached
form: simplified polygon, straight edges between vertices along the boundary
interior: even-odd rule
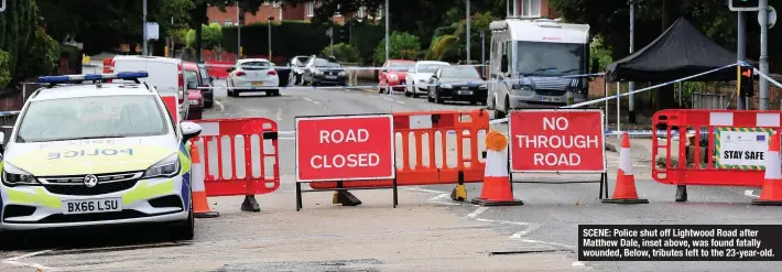
[[[652,177],[673,185],[761,186],[763,156],[771,133],[780,129],[780,113],[778,110],[658,111],[653,126],[665,134],[652,132]],[[674,131],[678,133],[675,139]],[[664,165],[660,166],[658,161]]]

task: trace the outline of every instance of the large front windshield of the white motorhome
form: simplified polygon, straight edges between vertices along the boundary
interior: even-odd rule
[[[578,75],[584,69],[584,44],[517,42],[517,67],[523,76]]]

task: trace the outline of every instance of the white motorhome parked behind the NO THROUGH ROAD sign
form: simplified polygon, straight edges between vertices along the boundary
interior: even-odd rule
[[[511,109],[586,101],[589,25],[551,19],[493,21],[487,106],[496,118]]]

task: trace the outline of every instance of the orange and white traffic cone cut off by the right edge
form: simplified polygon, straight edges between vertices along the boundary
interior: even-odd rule
[[[780,135],[774,132],[769,139],[769,153],[765,159],[765,179],[760,191],[760,198],[752,205],[782,206],[782,167],[780,167]]]

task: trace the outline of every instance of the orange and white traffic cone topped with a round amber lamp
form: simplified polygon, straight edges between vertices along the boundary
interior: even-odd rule
[[[486,134],[486,170],[484,172],[484,188],[480,197],[473,204],[480,206],[524,205],[513,199],[511,181],[508,176],[508,139],[500,132],[489,131]]]

